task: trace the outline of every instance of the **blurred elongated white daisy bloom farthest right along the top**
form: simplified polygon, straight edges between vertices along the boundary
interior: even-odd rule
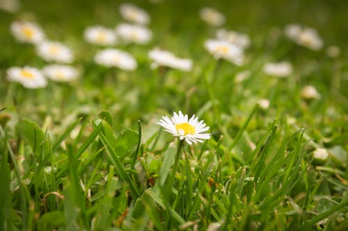
[[[285,26],[285,35],[301,46],[306,46],[313,51],[322,49],[324,42],[314,28],[290,24]]]

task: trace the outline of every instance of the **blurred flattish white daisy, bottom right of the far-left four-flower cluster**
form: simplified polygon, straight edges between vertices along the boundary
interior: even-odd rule
[[[42,73],[56,82],[68,82],[79,76],[79,71],[68,65],[47,65]]]

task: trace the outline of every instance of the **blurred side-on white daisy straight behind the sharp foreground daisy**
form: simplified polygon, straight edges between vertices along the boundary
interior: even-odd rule
[[[191,71],[192,69],[192,61],[190,59],[177,58],[173,53],[157,47],[149,51],[148,55],[153,61],[152,68],[163,66],[180,69],[181,71]]]

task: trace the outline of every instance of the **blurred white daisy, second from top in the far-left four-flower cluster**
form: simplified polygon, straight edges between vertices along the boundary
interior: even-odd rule
[[[70,48],[60,42],[42,42],[36,47],[36,52],[47,62],[71,63],[74,60],[74,55],[72,55]]]

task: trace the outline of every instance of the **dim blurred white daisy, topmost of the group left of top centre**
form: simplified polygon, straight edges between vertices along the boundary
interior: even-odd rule
[[[121,16],[135,24],[147,25],[150,23],[148,12],[130,3],[123,3],[120,6]]]

